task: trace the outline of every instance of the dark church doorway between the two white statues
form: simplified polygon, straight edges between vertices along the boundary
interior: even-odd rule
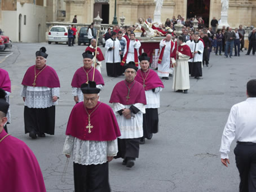
[[[210,0],[187,0],[187,18],[201,16],[205,26],[209,26]]]

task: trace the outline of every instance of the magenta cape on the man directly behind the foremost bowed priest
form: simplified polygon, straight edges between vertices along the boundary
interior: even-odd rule
[[[92,69],[93,67],[91,66],[90,69]],[[100,72],[95,69],[95,74],[94,74],[94,69],[92,69],[90,72],[88,69],[86,69],[86,72],[88,74],[89,79],[87,79],[85,70],[83,70],[85,68],[83,68],[83,66],[79,69],[77,69],[76,73],[74,73],[73,79],[72,79],[72,83],[71,86],[72,87],[77,87],[77,88],[81,88],[81,85],[83,83],[86,83],[87,81],[92,81],[92,77],[94,75],[94,81],[96,82],[96,84],[102,84],[104,86],[104,80],[102,75],[100,74]]]

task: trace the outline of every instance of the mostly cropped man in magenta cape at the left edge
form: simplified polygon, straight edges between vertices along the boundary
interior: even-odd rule
[[[9,96],[11,94],[11,80],[10,80],[9,74],[5,69],[0,68],[0,77],[1,77],[0,78],[0,88],[5,90],[6,102],[8,102],[8,104],[10,104]],[[9,108],[8,112],[7,112],[7,123],[6,124],[10,124],[10,123],[11,123],[11,110]],[[7,126],[5,125],[5,127],[3,127],[3,128],[7,132]]]

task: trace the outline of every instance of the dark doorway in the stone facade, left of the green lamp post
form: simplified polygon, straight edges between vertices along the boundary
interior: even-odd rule
[[[102,24],[109,24],[109,4],[108,3],[95,3],[94,4],[94,18],[98,15],[103,19]]]

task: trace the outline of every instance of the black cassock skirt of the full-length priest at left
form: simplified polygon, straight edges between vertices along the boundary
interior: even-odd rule
[[[49,108],[24,108],[25,133],[36,131],[38,134],[54,135],[55,105]]]

